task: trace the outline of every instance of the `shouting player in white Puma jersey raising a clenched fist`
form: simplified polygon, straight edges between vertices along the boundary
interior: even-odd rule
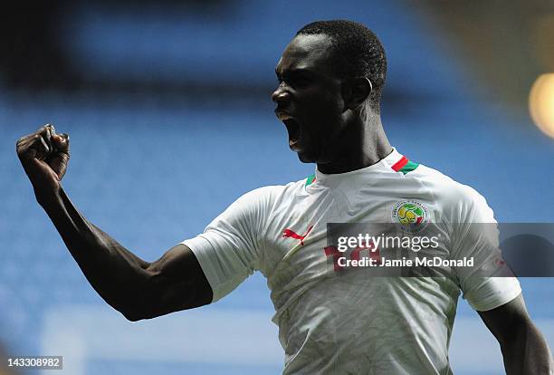
[[[551,372],[515,278],[368,277],[337,264],[327,223],[415,223],[444,229],[449,257],[489,256],[494,240],[469,224],[494,222],[471,187],[406,159],[379,117],[387,64],[377,37],[348,21],[304,26],[277,65],[275,113],[310,178],[240,197],[202,235],[145,262],[92,225],[60,185],[69,137],[46,125],[17,142],[35,196],[100,296],[129,320],[212,303],[253,270],[268,279],[287,374],[448,374],[460,290],[501,344],[509,374]],[[404,210],[404,211],[403,211]],[[402,216],[402,217],[400,217]]]

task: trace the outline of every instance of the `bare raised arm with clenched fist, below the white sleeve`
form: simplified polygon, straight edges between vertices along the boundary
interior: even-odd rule
[[[190,309],[212,301],[212,289],[195,255],[177,245],[148,263],[91,224],[60,181],[70,154],[69,136],[52,125],[17,140],[17,155],[38,203],[92,287],[130,321]]]

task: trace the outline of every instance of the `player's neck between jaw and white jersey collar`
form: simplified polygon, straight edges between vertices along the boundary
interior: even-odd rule
[[[392,152],[381,117],[375,111],[363,109],[347,119],[344,130],[338,134],[329,161],[318,161],[318,170],[325,174],[345,173],[376,164]],[[338,146],[338,147],[336,147]]]

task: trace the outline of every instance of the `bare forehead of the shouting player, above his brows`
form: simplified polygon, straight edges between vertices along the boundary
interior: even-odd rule
[[[276,72],[306,69],[331,73],[332,42],[326,34],[297,35],[282,53]]]

